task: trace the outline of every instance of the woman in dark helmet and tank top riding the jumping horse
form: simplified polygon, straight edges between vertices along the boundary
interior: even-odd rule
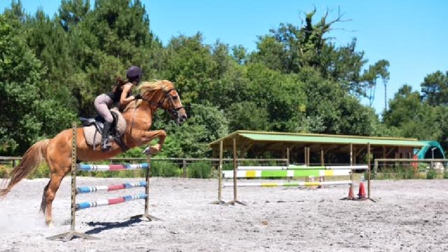
[[[112,92],[109,92],[108,94],[101,94],[95,99],[95,109],[105,120],[103,134],[101,137],[102,151],[110,150],[112,147],[109,143],[109,131],[112,126],[113,117],[109,111],[109,108],[117,103],[119,107],[122,107],[133,100],[141,98],[140,94],[130,96],[132,87],[140,82],[140,68],[137,66],[131,66],[126,72],[126,78],[126,81],[118,79],[116,86],[112,89]]]

